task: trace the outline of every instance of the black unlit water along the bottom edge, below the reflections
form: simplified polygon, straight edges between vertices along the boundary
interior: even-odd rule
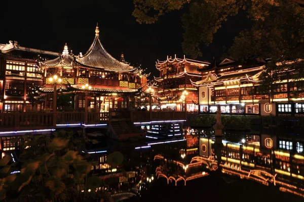
[[[277,187],[264,186],[259,183],[240,180],[226,183],[222,178],[209,175],[183,183],[167,184],[160,178],[151,183],[141,197],[130,198],[129,201],[304,201],[303,198],[284,193]]]

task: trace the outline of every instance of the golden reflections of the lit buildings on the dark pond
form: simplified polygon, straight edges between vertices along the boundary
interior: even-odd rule
[[[218,166],[211,127],[184,127],[183,131],[176,131],[177,136],[174,135],[174,127],[181,129],[179,124],[172,124],[169,128],[172,131],[168,133],[156,126],[142,127],[151,132],[162,132],[151,134],[154,138],[147,137],[141,141],[116,142],[117,145],[111,144],[106,154],[91,155],[100,163],[99,167],[92,168],[92,172],[108,179],[108,186],[103,189],[110,190],[115,200],[122,200],[149,193],[155,180],[187,186],[188,181],[204,180],[207,176],[236,176],[304,197],[304,156],[297,153],[302,151],[300,139],[291,138],[286,143],[280,135],[264,134],[262,127],[250,131],[225,130]],[[126,173],[113,171],[106,164],[106,156],[113,150],[124,154]]]

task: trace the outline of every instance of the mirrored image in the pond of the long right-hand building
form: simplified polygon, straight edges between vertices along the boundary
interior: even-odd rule
[[[222,168],[237,171],[262,170],[273,176],[276,174],[276,180],[285,182],[304,179],[302,140],[286,140],[263,134],[257,140],[252,139],[246,144],[222,140]],[[199,149],[201,157],[215,158],[214,139],[200,138]]]

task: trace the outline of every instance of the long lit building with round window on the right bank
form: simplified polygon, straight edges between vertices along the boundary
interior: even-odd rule
[[[202,72],[201,81],[192,81],[194,86],[199,87],[200,112],[215,113],[216,105],[221,105],[223,114],[303,113],[304,105],[301,100],[304,95],[300,93],[302,88],[298,82],[292,79],[287,82],[287,79],[283,79],[273,83],[272,93],[263,94],[259,91],[261,80],[258,77],[267,62],[260,60],[240,64],[225,59],[212,69]]]

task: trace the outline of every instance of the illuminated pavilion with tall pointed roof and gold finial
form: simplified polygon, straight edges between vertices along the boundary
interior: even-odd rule
[[[122,62],[121,62],[122,61]],[[95,38],[88,51],[83,55],[72,55],[67,45],[61,56],[54,60],[41,61],[40,65],[46,78],[57,75],[62,79],[62,92],[75,93],[75,110],[85,107],[107,112],[110,109],[132,109],[135,105],[134,95],[140,93],[146,84],[148,75],[141,74],[142,70],[137,66],[131,66],[125,62],[124,55],[121,61],[108,54],[99,39],[99,28],[96,27]],[[49,98],[46,106],[52,108],[52,86],[46,79],[45,86],[39,91]],[[82,86],[88,84],[89,104],[85,104],[85,92]],[[51,92],[51,93],[50,93]]]

